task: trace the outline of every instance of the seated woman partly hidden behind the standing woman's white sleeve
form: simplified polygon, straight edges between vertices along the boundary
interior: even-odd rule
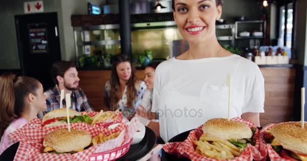
[[[152,129],[157,138],[160,138],[158,114],[151,112],[152,92],[154,90],[155,70],[160,62],[153,62],[146,66],[144,70],[144,82],[147,89],[143,95],[140,106],[137,109],[138,119],[147,127]]]

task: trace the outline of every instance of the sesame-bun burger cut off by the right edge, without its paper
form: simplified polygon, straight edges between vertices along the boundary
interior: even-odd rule
[[[264,140],[285,159],[307,160],[307,128],[301,128],[301,122],[277,124],[265,132]]]

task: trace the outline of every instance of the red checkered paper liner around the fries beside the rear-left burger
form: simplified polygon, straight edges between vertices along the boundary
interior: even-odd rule
[[[81,115],[88,115],[89,117],[94,117],[96,114],[98,114],[99,112],[81,112]],[[116,123],[121,123],[123,121],[123,113],[121,112],[114,112],[114,115],[111,119],[107,119],[106,121],[99,121],[96,122],[93,126],[104,126],[104,127],[108,127],[111,124],[116,124]]]

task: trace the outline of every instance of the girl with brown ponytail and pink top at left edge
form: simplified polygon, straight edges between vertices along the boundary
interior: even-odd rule
[[[0,154],[9,146],[9,134],[46,109],[43,87],[35,78],[3,74],[0,76]]]

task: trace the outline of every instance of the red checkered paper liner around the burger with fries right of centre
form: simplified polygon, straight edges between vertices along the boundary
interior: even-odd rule
[[[250,128],[254,128],[255,135],[254,135],[254,140],[258,137],[258,128],[254,126],[254,124],[250,121],[243,120],[239,117],[232,118],[231,120],[234,121],[240,121],[248,125]],[[189,133],[189,136],[183,141],[183,142],[170,142],[166,143],[163,146],[163,149],[167,153],[171,154],[177,154],[178,157],[187,157],[193,161],[203,161],[203,160],[209,160],[209,161],[217,161],[218,159],[214,158],[208,158],[203,155],[200,155],[195,152],[195,144],[193,143],[194,140],[198,140],[199,137],[202,135],[202,125],[196,128],[195,130],[191,131]],[[256,142],[257,143],[257,142]],[[255,146],[252,146],[250,144],[247,144],[246,148],[242,151],[240,156],[235,157],[234,159],[225,159],[228,161],[239,161],[239,160],[261,160],[262,155],[258,150],[258,147],[260,145],[256,144]]]

